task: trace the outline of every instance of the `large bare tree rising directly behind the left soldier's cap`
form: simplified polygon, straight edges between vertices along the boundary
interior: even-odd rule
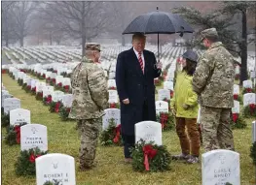
[[[60,30],[74,39],[81,39],[82,48],[102,33],[109,24],[104,2],[47,2],[44,13],[58,23]],[[84,49],[82,49],[84,56]]]

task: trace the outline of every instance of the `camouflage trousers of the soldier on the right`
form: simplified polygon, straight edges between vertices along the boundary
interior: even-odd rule
[[[201,126],[205,152],[215,149],[235,150],[231,129],[231,108],[201,106]]]

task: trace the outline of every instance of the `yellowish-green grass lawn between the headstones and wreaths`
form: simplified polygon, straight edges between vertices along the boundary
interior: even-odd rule
[[[31,111],[31,122],[48,127],[49,153],[64,153],[71,155],[76,161],[77,185],[201,185],[201,164],[186,165],[181,162],[171,162],[171,170],[166,172],[134,172],[130,165],[123,163],[123,148],[118,146],[98,146],[96,161],[97,167],[90,171],[78,170],[78,149],[80,139],[75,130],[74,121],[62,122],[56,113],[50,113],[48,107],[36,101],[34,96],[25,93],[18,86],[18,82],[2,75],[4,83],[10,94],[21,100],[21,108]],[[240,154],[241,185],[252,185],[255,168],[249,157],[251,146],[251,122],[246,119],[248,127],[244,130],[234,131],[236,150]],[[8,146],[3,137],[6,129],[2,128],[2,184],[3,185],[34,185],[35,177],[18,177],[15,174],[15,163],[19,155],[19,145]],[[179,140],[174,131],[164,132],[163,142],[171,154],[180,153]],[[201,149],[201,153],[203,150]]]

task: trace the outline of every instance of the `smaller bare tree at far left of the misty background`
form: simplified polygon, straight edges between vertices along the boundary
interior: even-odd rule
[[[34,2],[20,1],[16,2],[12,8],[11,14],[16,22],[14,32],[19,40],[19,45],[24,45],[24,38],[30,34],[31,18],[35,12],[36,4]]]

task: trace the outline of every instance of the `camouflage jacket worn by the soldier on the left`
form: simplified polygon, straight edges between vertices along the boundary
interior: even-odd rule
[[[83,58],[71,76],[73,103],[69,117],[93,119],[104,115],[107,108],[107,81],[104,72],[92,60]]]

